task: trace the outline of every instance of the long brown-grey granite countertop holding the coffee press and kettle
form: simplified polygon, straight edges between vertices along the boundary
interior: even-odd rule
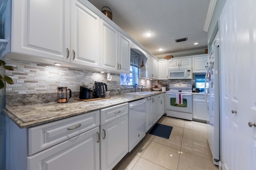
[[[91,111],[104,109],[107,107],[132,102],[135,100],[143,99],[148,96],[164,93],[162,91],[152,91],[154,94],[146,96],[121,94],[111,96],[108,99],[94,100],[90,102],[83,102],[74,100],[67,103],[47,103],[35,104],[26,106],[11,107],[6,106],[4,113],[20,128],[30,128],[37,125],[42,125],[52,121],[65,119],[75,115],[88,113]]]

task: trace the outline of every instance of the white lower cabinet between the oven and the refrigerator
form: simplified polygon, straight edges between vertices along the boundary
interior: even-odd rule
[[[204,95],[193,94],[193,119],[209,120],[208,107]]]

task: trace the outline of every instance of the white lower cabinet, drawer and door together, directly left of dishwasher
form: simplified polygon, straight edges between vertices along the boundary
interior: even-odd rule
[[[112,170],[128,153],[128,103],[102,109],[100,116],[115,117],[100,125],[100,169]]]

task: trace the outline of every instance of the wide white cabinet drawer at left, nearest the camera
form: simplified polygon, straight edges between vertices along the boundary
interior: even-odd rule
[[[28,129],[28,155],[44,150],[100,125],[100,111]]]

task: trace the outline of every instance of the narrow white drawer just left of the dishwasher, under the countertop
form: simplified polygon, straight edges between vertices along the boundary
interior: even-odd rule
[[[128,114],[128,103],[100,110],[100,125],[104,125],[122,115]]]

